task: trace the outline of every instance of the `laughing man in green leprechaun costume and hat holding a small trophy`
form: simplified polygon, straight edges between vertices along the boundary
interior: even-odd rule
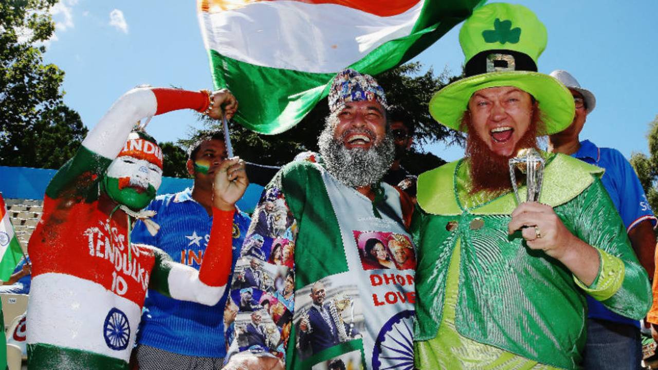
[[[509,159],[574,117],[569,90],[536,72],[544,25],[495,3],[459,38],[467,77],[436,93],[430,113],[467,132],[467,157],[418,178],[416,366],[579,369],[586,295],[640,319],[647,274],[598,167],[542,152],[539,201],[524,201],[525,182],[522,203],[511,191]]]

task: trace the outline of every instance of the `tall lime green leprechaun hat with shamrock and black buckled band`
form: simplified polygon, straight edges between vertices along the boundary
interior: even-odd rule
[[[545,126],[538,136],[564,130],[573,120],[574,101],[563,84],[537,72],[546,42],[544,24],[522,5],[492,3],[476,9],[459,32],[466,77],[434,94],[430,114],[444,126],[464,131],[461,119],[474,92],[514,86],[538,101]]]

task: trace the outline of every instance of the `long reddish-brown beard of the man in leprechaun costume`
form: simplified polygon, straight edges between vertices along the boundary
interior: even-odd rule
[[[543,125],[542,120],[540,120],[540,114],[539,109],[534,109],[532,122],[530,122],[528,130],[523,134],[519,142],[517,142],[514,153],[518,153],[519,149],[530,147],[539,149],[536,133],[538,126]],[[472,180],[470,194],[475,194],[482,190],[492,193],[501,193],[510,190],[512,183],[509,177],[509,159],[515,157],[515,154],[506,157],[493,153],[472,127],[468,113],[464,114],[462,124],[468,130],[466,155],[470,158],[470,178]],[[517,172],[517,179],[522,178],[524,178],[524,175]]]

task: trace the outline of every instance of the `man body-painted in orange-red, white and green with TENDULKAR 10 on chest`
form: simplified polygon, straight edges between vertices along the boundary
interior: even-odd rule
[[[131,133],[134,123],[184,108],[217,119],[222,104],[227,115],[235,113],[226,91],[131,90],[55,174],[29,244],[29,369],[126,369],[147,288],[207,305],[220,299],[230,271],[233,204],[247,182],[238,159],[215,178],[215,223],[201,271],[132,244],[130,224],[145,216],[139,209],[155,196],[163,159],[153,138]]]

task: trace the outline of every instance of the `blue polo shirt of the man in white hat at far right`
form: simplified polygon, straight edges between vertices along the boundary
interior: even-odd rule
[[[615,204],[626,226],[626,232],[646,220],[651,221],[653,226],[656,225],[657,220],[649,207],[642,184],[633,167],[619,150],[597,147],[590,140],[583,140],[580,142],[580,149],[571,156],[605,169],[601,182]],[[587,302],[590,319],[603,319],[640,327],[638,321],[617,315],[590,296],[587,296]]]

